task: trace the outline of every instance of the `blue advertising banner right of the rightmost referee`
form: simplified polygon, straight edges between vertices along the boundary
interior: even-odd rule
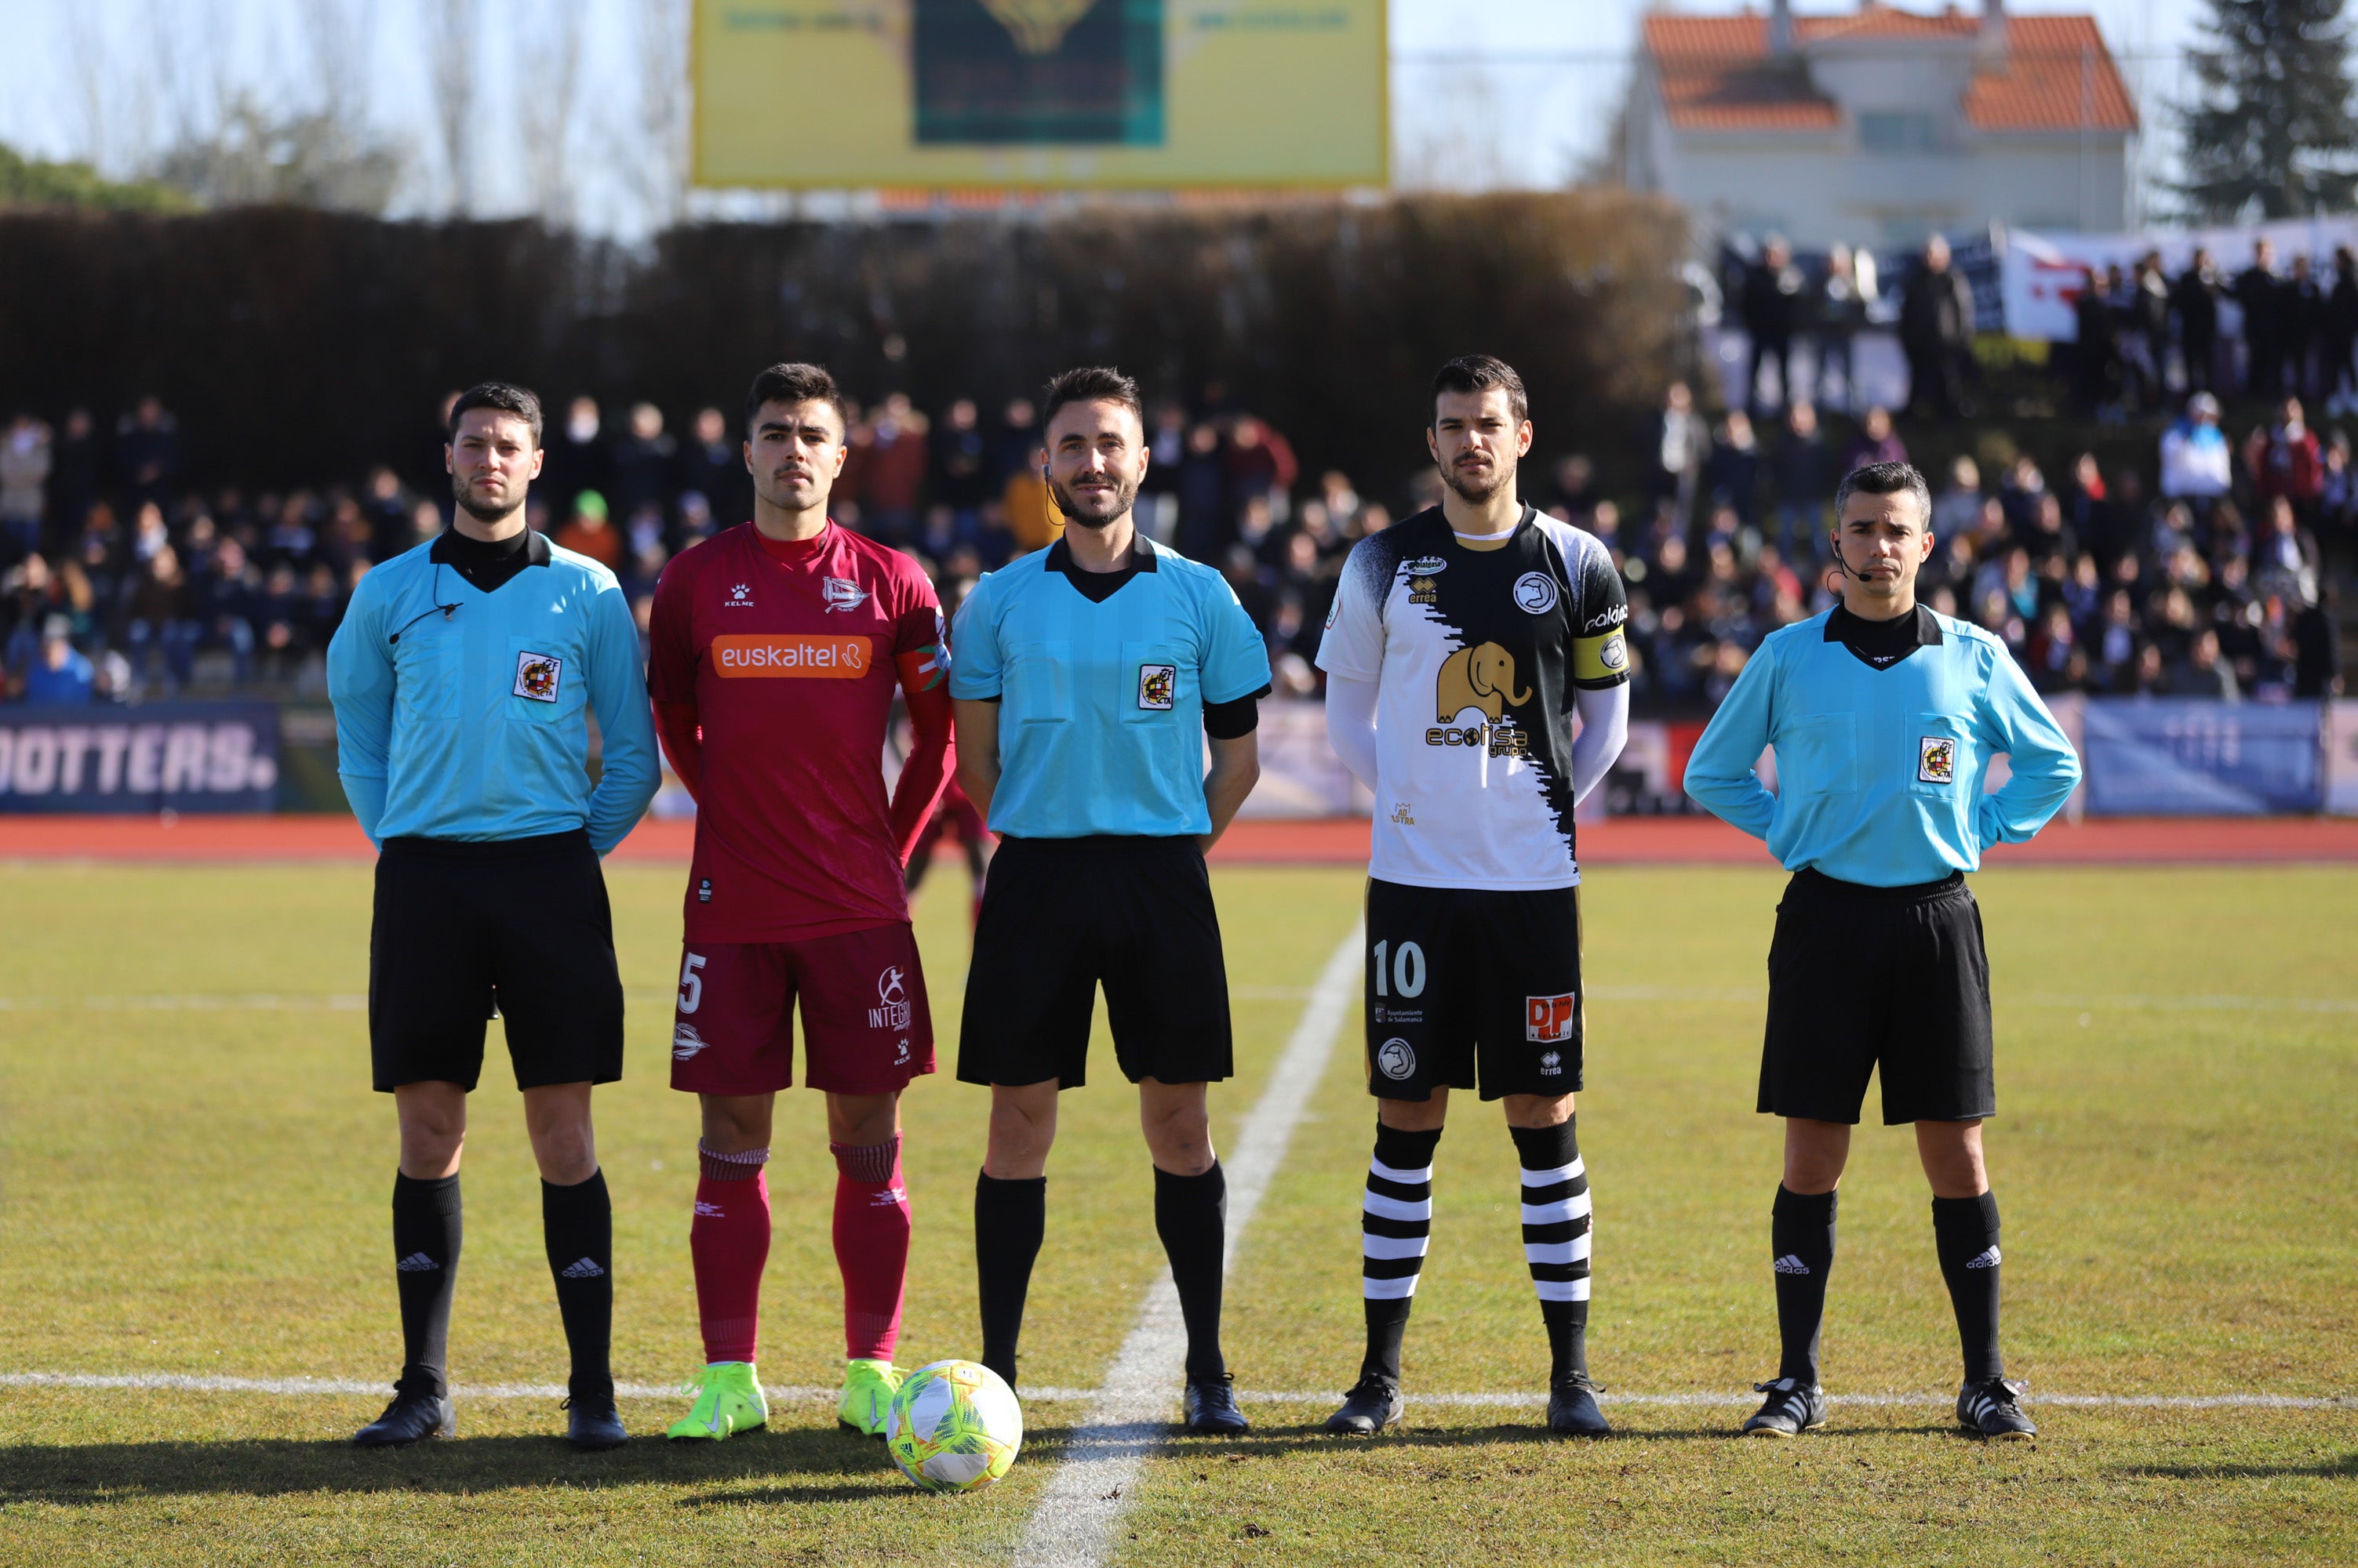
[[[2325,804],[2318,703],[2089,700],[2089,816],[2266,816]]]

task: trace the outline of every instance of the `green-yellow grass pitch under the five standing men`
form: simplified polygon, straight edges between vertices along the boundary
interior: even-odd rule
[[[698,1361],[686,1259],[696,1115],[665,1089],[679,875],[608,870],[632,1059],[599,1094],[615,1195],[615,1370]],[[1214,1137],[1349,931],[1358,877],[1214,877],[1240,1078]],[[1596,1375],[1731,1396],[1776,1365],[1766,1214],[1778,1132],[1752,1115],[1778,877],[1599,870],[1582,1151],[1596,1186]],[[1993,1177],[2007,1349],[2037,1448],[1983,1448],[1934,1403],[1955,1339],[1912,1141],[1865,1127],[1844,1181],[1823,1436],[1738,1443],[1735,1405],[1608,1403],[1611,1443],[1537,1405],[1410,1405],[1316,1431],[1358,1358],[1358,1191],[1372,1113],[1356,1009],[1229,1287],[1245,1441],[1148,1460],[1115,1533],[1137,1563],[2349,1561],[2358,1408],[2061,1405],[2040,1396],[2358,1391],[2358,872],[2014,870],[1981,894],[1997,990]],[[389,1379],[391,1106],[368,1092],[365,868],[0,868],[0,1372]],[[948,1075],[964,898],[917,915],[943,1075],[905,1099],[917,1205],[903,1361],[971,1353],[979,1089]],[[1160,1266],[1137,1101],[1099,1047],[1066,1096],[1026,1384],[1092,1386]],[[1441,1141],[1410,1394],[1530,1394],[1544,1342],[1495,1106]],[[1872,1115],[1870,1094],[1870,1115]],[[832,1382],[832,1165],[818,1096],[780,1106],[769,1382]],[[561,1382],[519,1101],[498,1033],[467,1153],[460,1384]],[[573,1455],[549,1398],[462,1403],[457,1443],[342,1445],[370,1396],[0,1386],[0,1561],[1005,1561],[1080,1405],[1035,1401],[995,1490],[908,1488],[818,1403],[717,1448]],[[684,1401],[625,1401],[660,1434]]]

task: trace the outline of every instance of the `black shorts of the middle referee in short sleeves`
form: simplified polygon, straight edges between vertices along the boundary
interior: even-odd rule
[[[1196,839],[1000,842],[967,967],[960,1082],[1078,1089],[1099,983],[1129,1082],[1236,1070],[1229,964]]]

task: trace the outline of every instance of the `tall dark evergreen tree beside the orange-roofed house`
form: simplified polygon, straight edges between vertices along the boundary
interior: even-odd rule
[[[2176,106],[2198,222],[2346,212],[2358,189],[2341,0],[2209,0],[2198,92]]]

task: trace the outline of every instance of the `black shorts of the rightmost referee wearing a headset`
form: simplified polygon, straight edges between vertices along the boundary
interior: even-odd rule
[[[1990,960],[1964,875],[1860,887],[1794,872],[1768,943],[1759,1108],[1858,1122],[1882,1068],[1884,1125],[1997,1113]]]

